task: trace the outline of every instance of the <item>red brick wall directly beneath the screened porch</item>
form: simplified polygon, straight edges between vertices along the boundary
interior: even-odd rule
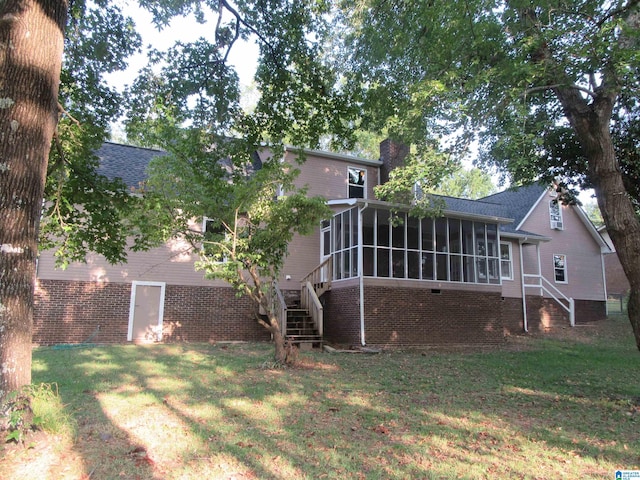
[[[365,287],[367,345],[486,345],[504,339],[499,293]],[[326,297],[327,340],[360,343],[359,289]]]

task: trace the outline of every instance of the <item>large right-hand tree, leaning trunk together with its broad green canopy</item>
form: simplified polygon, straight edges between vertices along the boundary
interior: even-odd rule
[[[516,182],[561,176],[568,187],[593,186],[631,284],[640,349],[640,222],[629,187],[638,117],[624,120],[637,112],[639,2],[341,6],[336,29],[347,35],[336,65],[361,99],[363,125],[407,143],[453,135],[458,151],[477,140],[481,159]]]

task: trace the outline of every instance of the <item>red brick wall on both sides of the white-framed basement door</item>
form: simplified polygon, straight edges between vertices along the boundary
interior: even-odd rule
[[[37,345],[125,343],[131,284],[40,280],[36,288],[33,342]],[[231,288],[167,285],[164,341],[266,341],[246,297]]]

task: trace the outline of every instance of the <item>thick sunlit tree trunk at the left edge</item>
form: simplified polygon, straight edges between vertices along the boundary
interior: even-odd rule
[[[31,383],[35,262],[68,3],[0,7],[0,399]]]

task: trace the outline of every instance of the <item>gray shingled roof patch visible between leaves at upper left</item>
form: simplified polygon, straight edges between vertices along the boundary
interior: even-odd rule
[[[96,155],[100,159],[99,174],[111,179],[121,178],[129,187],[139,187],[147,178],[149,162],[166,155],[166,152],[105,142],[96,151]]]

